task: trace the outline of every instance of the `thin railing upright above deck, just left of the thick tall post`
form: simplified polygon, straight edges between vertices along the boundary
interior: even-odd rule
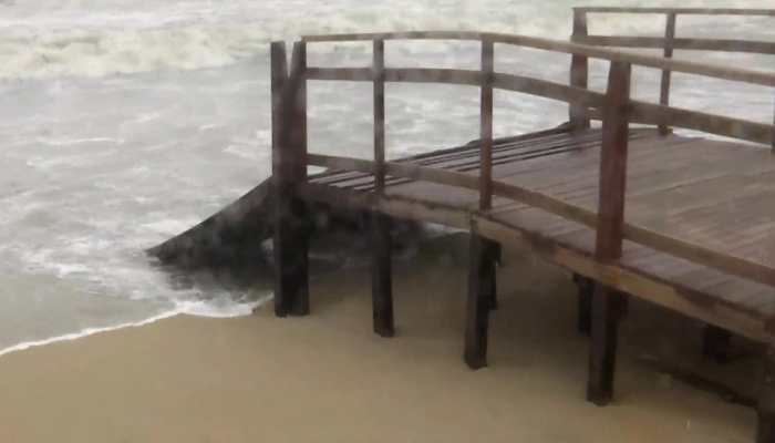
[[[479,111],[479,209],[493,206],[493,73],[495,45],[482,41],[482,96]]]

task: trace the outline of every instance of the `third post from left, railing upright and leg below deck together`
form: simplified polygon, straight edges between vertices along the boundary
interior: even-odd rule
[[[495,44],[482,41],[482,97],[480,97],[480,151],[479,151],[479,210],[493,205],[493,78],[495,71]],[[473,228],[473,226],[472,226]],[[468,300],[466,310],[465,352],[466,364],[472,369],[487,365],[487,328],[493,307],[495,255],[493,241],[476,234],[471,235]]]

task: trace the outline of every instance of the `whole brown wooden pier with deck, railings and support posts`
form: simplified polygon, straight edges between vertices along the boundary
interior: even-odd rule
[[[608,12],[664,14],[665,37],[589,35],[587,16]],[[775,126],[670,105],[672,72],[767,86],[772,99],[773,73],[670,58],[683,49],[775,54],[775,43],[679,39],[681,14],[775,17],[775,11],[579,8],[574,42],[485,32],[314,35],[293,43],[290,66],[285,43],[272,43],[273,175],[264,193],[273,204],[261,210],[269,217],[266,225],[273,227],[264,233],[273,235],[277,315],[310,311],[306,226],[318,208],[368,215],[374,331],[385,337],[393,336],[394,316],[391,223],[410,219],[466,229],[472,254],[464,359],[480,368],[487,363],[498,247],[527,244],[576,275],[579,329],[591,340],[589,401],[602,405],[613,398],[617,328],[628,297],[638,297],[706,322],[707,353],[723,347],[728,332],[763,343],[757,441],[775,442]],[[385,44],[400,40],[480,42],[482,65],[385,66]],[[308,45],[333,41],[372,42],[372,64],[307,64]],[[569,54],[569,84],[497,72],[499,45]],[[596,45],[660,48],[664,56]],[[589,59],[609,63],[604,93],[587,87]],[[631,99],[632,66],[662,71],[657,103]],[[307,152],[306,87],[317,80],[373,84],[372,161]],[[479,87],[480,140],[388,162],[386,82]],[[494,138],[494,90],[566,102],[569,122]],[[591,121],[601,121],[601,127]],[[672,128],[724,138],[678,135]],[[308,176],[308,166],[327,172]],[[176,250],[176,241],[156,251]]]

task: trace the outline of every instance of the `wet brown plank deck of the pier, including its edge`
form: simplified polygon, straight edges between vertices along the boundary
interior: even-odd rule
[[[600,146],[599,130],[551,130],[502,138],[494,144],[493,177],[597,212]],[[478,145],[471,143],[414,157],[413,162],[477,175],[478,152]],[[328,200],[352,205],[356,199],[349,197],[350,190],[371,193],[373,176],[329,172],[311,177],[310,183],[348,189],[347,195],[329,196]],[[385,194],[465,214],[476,214],[478,205],[475,190],[427,182],[389,178]],[[626,220],[632,225],[775,267],[771,253],[775,250],[774,197],[775,157],[766,148],[674,134],[662,136],[653,130],[630,132]],[[424,217],[409,216],[421,220]],[[497,222],[581,256],[589,257],[595,251],[593,229],[514,200],[496,197],[493,209],[475,217]],[[624,243],[617,265],[674,288],[702,309],[723,306],[734,312],[727,319],[740,315],[764,326],[775,315],[774,288],[631,241]],[[631,291],[676,308],[674,302],[654,299],[651,292]],[[691,307],[678,310],[696,313]],[[758,339],[763,332],[748,327],[741,330],[734,321],[713,316],[703,319],[752,338]]]

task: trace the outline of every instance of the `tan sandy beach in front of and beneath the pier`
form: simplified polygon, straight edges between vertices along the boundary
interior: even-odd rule
[[[371,333],[364,269],[316,277],[312,315],[271,303],[236,319],[176,317],[0,358],[0,442],[750,442],[755,414],[661,373],[750,389],[753,360],[699,356],[699,328],[633,303],[614,404],[585,401],[574,286],[506,254],[489,367],[462,362],[465,239],[395,265],[397,336]]]

